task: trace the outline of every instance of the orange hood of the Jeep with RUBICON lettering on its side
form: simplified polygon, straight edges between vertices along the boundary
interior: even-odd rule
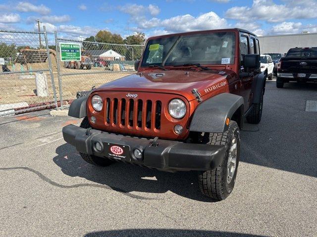
[[[233,74],[234,72],[231,70],[194,72],[153,70],[113,80],[100,86],[96,91],[172,93],[184,96],[190,101],[196,99],[191,92],[194,88],[201,93],[201,96],[204,96],[211,91],[228,85],[228,79],[231,79]]]

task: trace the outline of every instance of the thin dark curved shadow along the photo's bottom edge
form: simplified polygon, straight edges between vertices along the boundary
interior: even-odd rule
[[[100,231],[86,234],[84,237],[264,237],[222,231],[179,230],[179,229],[130,229],[118,231]]]

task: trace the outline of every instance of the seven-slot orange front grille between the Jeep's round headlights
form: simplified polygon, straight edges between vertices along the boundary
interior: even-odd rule
[[[106,98],[105,122],[130,129],[159,130],[162,103],[159,100]]]

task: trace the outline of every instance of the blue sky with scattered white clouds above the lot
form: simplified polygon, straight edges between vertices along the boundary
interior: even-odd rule
[[[99,30],[122,37],[239,27],[258,35],[317,32],[317,0],[0,0],[0,29],[83,39]]]

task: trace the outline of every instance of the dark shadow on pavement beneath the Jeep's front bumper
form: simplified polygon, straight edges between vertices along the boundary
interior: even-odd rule
[[[213,202],[211,198],[200,193],[197,173],[194,171],[170,173],[122,162],[98,167],[85,162],[76,149],[67,143],[57,147],[56,154],[53,161],[64,174],[70,177],[82,177],[118,192],[162,194],[171,191],[182,197]],[[145,196],[149,197],[149,195]]]

